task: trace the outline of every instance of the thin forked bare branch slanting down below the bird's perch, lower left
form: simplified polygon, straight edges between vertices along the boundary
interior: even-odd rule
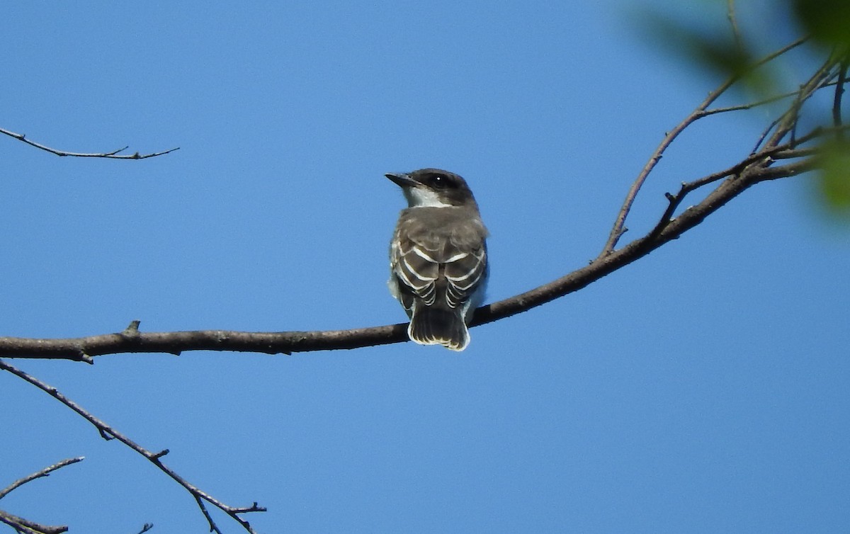
[[[200,488],[191,484],[188,480],[185,480],[182,476],[177,474],[173,469],[167,467],[164,463],[161,462],[161,457],[167,454],[167,449],[160,452],[150,452],[144,447],[140,446],[135,441],[128,438],[126,435],[123,435],[121,432],[113,429],[108,424],[101,421],[99,418],[94,417],[91,413],[86,411],[82,406],[78,405],[76,402],[71,401],[68,397],[59,392],[58,389],[53,386],[48,385],[47,383],[42,382],[38,378],[31,376],[30,374],[21,371],[17,367],[10,366],[5,361],[0,360],[0,370],[8,371],[14,374],[18,378],[22,378],[26,380],[26,382],[31,383],[36,386],[38,389],[42,389],[42,391],[52,395],[59,402],[68,406],[74,412],[77,412],[82,418],[86,419],[89,423],[94,425],[94,428],[98,429],[100,435],[102,436],[111,436],[116,440],[121,441],[124,445],[133,449],[133,451],[138,452],[143,457],[147,458],[150,463],[156,465],[158,469],[160,469],[163,473],[170,476],[173,480],[175,480],[180,486],[183,486],[186,491],[189,491],[191,496],[195,498],[195,501],[201,504],[201,511],[207,517],[207,521],[209,521],[211,531],[218,531],[218,526],[215,525],[215,522],[212,520],[212,517],[207,513],[207,508],[203,506],[203,501],[212,504],[216,508],[222,510],[225,514],[228,514],[233,520],[242,525],[246,531],[251,534],[256,534],[256,532],[252,529],[251,525],[248,521],[241,518],[240,514],[247,514],[249,512],[264,512],[266,508],[258,506],[257,503],[253,503],[251,506],[246,507],[234,507],[229,506],[228,504],[222,503],[218,499],[212,497],[206,491],[201,491]]]

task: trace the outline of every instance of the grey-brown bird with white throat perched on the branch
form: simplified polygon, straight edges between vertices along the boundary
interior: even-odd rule
[[[488,232],[466,180],[439,168],[387,173],[408,207],[389,246],[389,292],[410,318],[407,335],[460,351],[484,300]]]

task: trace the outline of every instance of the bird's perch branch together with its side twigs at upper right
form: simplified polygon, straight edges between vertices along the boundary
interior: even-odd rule
[[[796,48],[803,40],[797,40],[773,54],[757,61],[753,68]],[[705,116],[717,115],[724,111],[749,109],[755,105],[773,99],[760,100],[750,105],[711,109],[720,94],[732,87],[737,81],[732,77],[712,91],[703,102],[685,117],[676,128],[669,132],[659,147],[650,156],[649,162],[632,183],[626,202],[615,219],[602,253],[591,264],[552,281],[541,287],[521,293],[511,298],[486,305],[476,311],[472,327],[499,321],[511,315],[546,304],[555,298],[563,297],[586,287],[594,281],[609,275],[615,270],[631,264],[638,258],[651,253],[658,247],[677,239],[687,230],[700,224],[719,207],[739,196],[744,190],[759,182],[796,176],[816,168],[818,154],[816,149],[802,146],[825,134],[838,134],[843,126],[834,125],[831,129],[815,128],[808,134],[796,136],[796,128],[802,106],[820,89],[836,85],[843,87],[840,58],[830,57],[820,65],[793,94],[793,102],[788,109],[772,122],[759,137],[756,148],[734,166],[723,171],[706,175],[691,182],[684,182],[676,194],[667,193],[668,207],[655,228],[646,236],[640,237],[625,247],[616,249],[620,237],[625,231],[626,218],[639,190],[653,171],[667,148],[677,139],[684,129]],[[839,79],[839,82],[836,82]],[[785,98],[780,95],[777,98]],[[785,162],[777,165],[776,162]],[[689,207],[674,217],[683,199],[694,190],[711,185],[714,190],[693,207]],[[258,352],[267,354],[293,354],[314,350],[356,349],[371,345],[393,344],[407,340],[405,323],[382,327],[354,328],[350,330],[309,331],[309,332],[235,332],[225,330],[198,330],[188,332],[139,332],[139,321],[133,321],[122,332],[100,334],[82,338],[37,339],[37,338],[0,338],[0,356],[14,358],[65,359],[94,362],[94,356],[122,353],[171,353],[178,355],[185,350],[229,350],[239,352]]]

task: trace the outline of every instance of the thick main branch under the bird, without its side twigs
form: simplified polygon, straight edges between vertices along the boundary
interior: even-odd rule
[[[737,169],[734,176],[723,180],[706,198],[689,207],[676,219],[666,221],[660,230],[632,241],[625,247],[593,260],[544,286],[526,293],[489,304],[475,312],[471,326],[479,326],[517,315],[546,304],[555,298],[587,287],[615,270],[669,241],[677,239],[726,202],[745,189],[768,179],[779,179],[804,173],[814,167],[813,160],[803,159],[784,166],[767,167],[761,161],[750,162]],[[0,356],[14,358],[44,358],[87,361],[98,355],[122,353],[171,353],[186,350],[229,350],[267,354],[292,354],[314,350],[357,349],[360,347],[394,344],[408,341],[406,323],[382,327],[354,328],[311,332],[234,332],[226,330],[196,330],[186,332],[140,332],[139,321],[133,321],[123,332],[84,338],[37,339],[0,338]]]

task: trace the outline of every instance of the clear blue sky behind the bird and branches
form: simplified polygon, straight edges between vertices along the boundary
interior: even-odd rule
[[[0,335],[402,321],[385,281],[404,200],[383,173],[422,167],[472,185],[490,300],[586,265],[719,79],[638,31],[668,3],[562,4],[4,4],[0,127],[180,150],[83,160],[0,139]],[[624,239],[772,118],[685,134]],[[214,497],[268,507],[260,532],[841,531],[850,235],[812,191],[757,185],[581,292],[473,329],[462,354],[13,363],[169,448]],[[0,486],[86,457],[0,508],[71,532],[207,531],[187,493],[48,395],[7,373],[0,402]]]

